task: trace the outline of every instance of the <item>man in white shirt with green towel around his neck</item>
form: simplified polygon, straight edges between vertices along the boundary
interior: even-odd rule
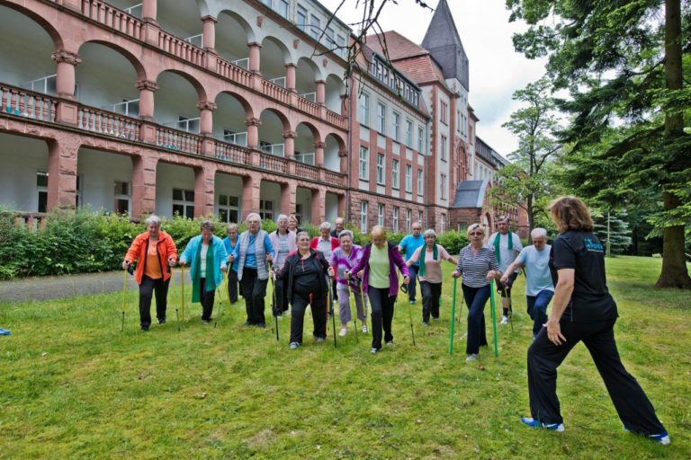
[[[511,286],[518,277],[518,271],[507,271],[508,266],[513,261],[516,261],[516,256],[523,249],[521,239],[517,234],[509,230],[510,219],[506,216],[498,217],[497,228],[498,232],[489,236],[488,244],[494,248],[494,255],[497,257],[499,270],[508,275],[505,282],[499,281],[497,283],[497,290],[501,293],[501,304],[504,307],[501,317],[501,323],[508,323],[508,315],[512,314],[511,310]]]

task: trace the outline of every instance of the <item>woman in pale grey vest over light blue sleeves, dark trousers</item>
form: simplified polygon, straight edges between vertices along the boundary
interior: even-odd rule
[[[269,235],[262,230],[262,219],[256,212],[247,216],[247,230],[240,234],[240,241],[229,261],[238,261],[238,279],[245,297],[246,326],[266,327],[264,297],[269,280],[269,262],[274,246]]]

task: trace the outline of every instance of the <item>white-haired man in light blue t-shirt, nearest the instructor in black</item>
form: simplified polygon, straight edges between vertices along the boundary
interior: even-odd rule
[[[552,246],[547,244],[547,230],[534,228],[530,232],[530,237],[533,239],[533,245],[523,248],[516,261],[508,266],[501,282],[506,283],[510,273],[525,267],[525,302],[528,305],[528,314],[533,320],[534,340],[543,324],[547,323],[547,305],[554,296],[554,285],[550,274]]]

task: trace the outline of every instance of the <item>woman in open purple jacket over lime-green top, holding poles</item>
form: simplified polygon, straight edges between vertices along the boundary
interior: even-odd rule
[[[381,330],[387,345],[393,344],[391,322],[393,307],[399,294],[399,275],[403,274],[403,284],[410,282],[408,267],[400,255],[398,246],[387,241],[386,230],[373,226],[370,233],[372,243],[365,244],[363,256],[355,262],[353,270],[346,271],[346,277],[352,272],[363,280],[363,290],[370,298],[372,306],[372,353],[381,349]]]

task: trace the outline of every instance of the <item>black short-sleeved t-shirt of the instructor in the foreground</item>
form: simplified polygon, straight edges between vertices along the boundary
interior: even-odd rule
[[[560,269],[575,270],[573,293],[562,320],[598,322],[618,316],[615,299],[607,289],[605,251],[595,234],[570,230],[557,236],[550,251],[554,286]]]

